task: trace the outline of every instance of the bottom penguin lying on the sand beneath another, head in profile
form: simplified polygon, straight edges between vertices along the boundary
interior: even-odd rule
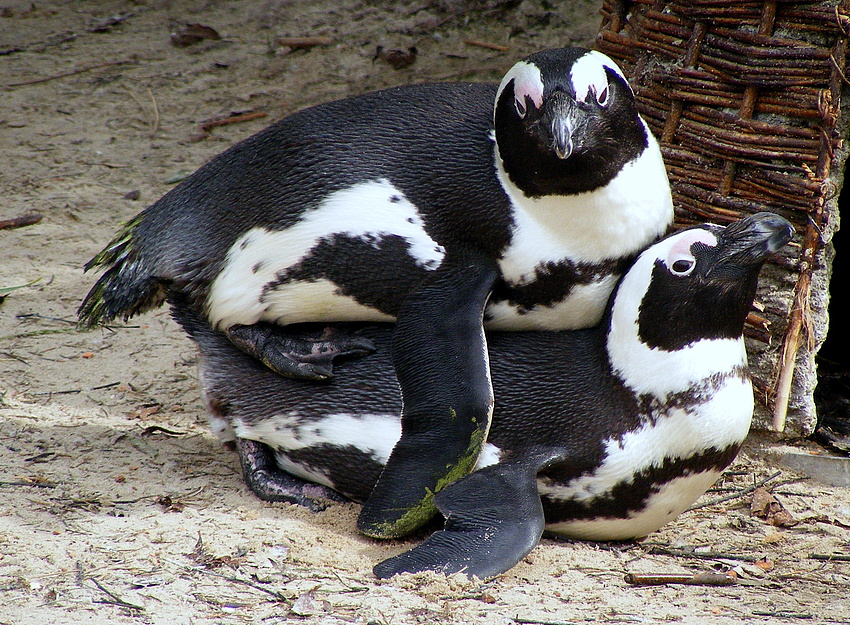
[[[748,433],[744,320],[764,260],[793,233],[771,213],[684,230],[638,257],[598,326],[488,333],[500,401],[478,470],[437,494],[445,529],[375,573],[489,577],[522,559],[544,524],[621,540],[684,511]],[[261,366],[191,306],[172,310],[199,347],[213,429],[236,440],[246,479],[277,473],[306,504],[333,498],[318,485],[368,499],[401,433],[388,328],[366,328],[377,353],[320,385]]]

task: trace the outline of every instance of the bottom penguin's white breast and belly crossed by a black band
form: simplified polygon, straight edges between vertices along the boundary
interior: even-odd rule
[[[590,540],[638,538],[686,510],[749,431],[752,386],[738,371],[668,396],[667,409],[652,410],[639,428],[605,441],[592,471],[569,480],[541,475],[547,529]],[[686,403],[676,407],[680,402]]]

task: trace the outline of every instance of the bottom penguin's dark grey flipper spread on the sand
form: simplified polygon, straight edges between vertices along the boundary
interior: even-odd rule
[[[455,482],[435,500],[445,528],[377,564],[380,578],[396,573],[465,573],[480,579],[504,573],[540,541],[545,521],[537,472],[566,457],[564,449],[522,452]]]

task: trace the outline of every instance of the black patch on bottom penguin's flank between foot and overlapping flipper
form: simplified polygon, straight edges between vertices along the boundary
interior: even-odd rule
[[[378,481],[383,465],[353,445],[315,445],[289,450],[286,456],[296,464],[328,476],[334,490],[349,499],[364,502]]]

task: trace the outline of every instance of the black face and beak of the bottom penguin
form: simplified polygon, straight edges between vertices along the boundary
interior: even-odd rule
[[[649,347],[675,351],[700,339],[740,337],[764,261],[794,233],[771,213],[702,229],[717,236],[716,246],[696,241],[655,261],[638,317],[641,341]]]

